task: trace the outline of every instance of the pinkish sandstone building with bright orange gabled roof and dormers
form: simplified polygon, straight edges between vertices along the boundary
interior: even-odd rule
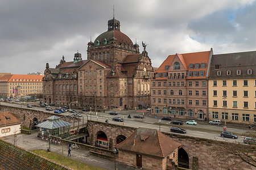
[[[170,55],[151,83],[151,114],[208,118],[209,65],[213,51]]]

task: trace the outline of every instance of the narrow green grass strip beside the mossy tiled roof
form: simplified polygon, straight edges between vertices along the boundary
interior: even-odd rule
[[[94,167],[93,165],[88,165],[81,163],[80,161],[73,160],[66,156],[57,155],[53,152],[47,152],[46,150],[32,150],[37,155],[46,157],[49,160],[55,161],[56,163],[62,164],[71,169],[92,169],[92,170],[102,170],[102,168]]]

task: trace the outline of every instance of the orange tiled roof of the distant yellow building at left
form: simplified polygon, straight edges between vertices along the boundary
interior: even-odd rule
[[[0,78],[0,82],[27,82],[28,81],[34,81],[35,82],[42,82],[43,75],[28,75],[28,74],[7,74]],[[14,80],[14,81],[13,81]],[[17,81],[18,80],[18,81]],[[38,81],[36,81],[38,80]],[[40,81],[41,80],[41,81]]]

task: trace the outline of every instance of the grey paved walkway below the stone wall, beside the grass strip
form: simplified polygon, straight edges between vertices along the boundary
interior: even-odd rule
[[[7,142],[14,143],[14,135],[2,137],[1,139],[6,140]],[[35,134],[27,135],[27,134],[19,134],[17,136],[17,145],[19,147],[23,147],[26,150],[47,150],[49,147],[49,143],[46,141],[42,141],[40,138],[36,137]],[[51,143],[51,152],[54,152],[58,155],[67,156],[68,155],[68,146],[64,144],[57,145]],[[80,161],[82,163],[94,165],[95,167],[100,167],[104,169],[113,170],[114,169],[114,161],[108,159],[102,159],[100,157],[89,155],[89,150],[84,150],[82,148],[75,149],[72,148],[71,151],[71,159]],[[130,167],[128,165],[124,165],[116,162],[117,169],[123,170],[133,170],[138,169],[134,167]]]

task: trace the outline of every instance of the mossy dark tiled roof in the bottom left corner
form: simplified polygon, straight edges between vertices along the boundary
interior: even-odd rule
[[[0,169],[70,169],[0,139]]]

